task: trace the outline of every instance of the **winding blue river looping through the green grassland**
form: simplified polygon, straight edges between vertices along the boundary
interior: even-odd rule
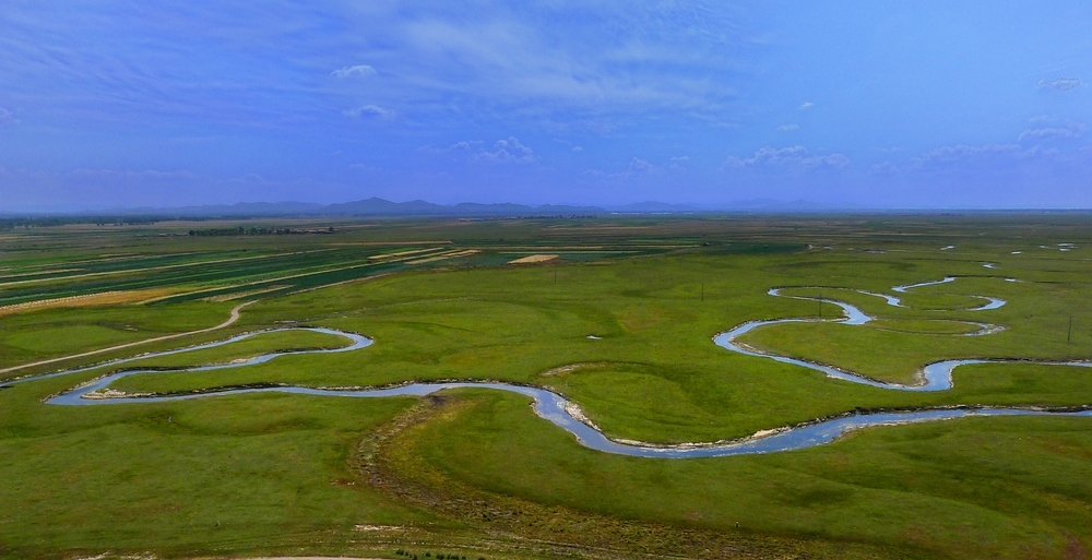
[[[906,293],[906,290],[909,289],[922,286],[935,285],[935,284],[949,283],[953,282],[954,279],[956,279],[954,277],[949,276],[941,281],[936,281],[936,282],[912,284],[906,286],[895,286],[894,288],[892,288],[892,290],[897,293]],[[881,297],[888,302],[888,305],[903,307],[901,299],[895,296],[875,294],[863,290],[858,291],[870,296]],[[817,302],[820,301],[820,298],[810,298],[804,296],[786,296],[781,293],[781,289],[778,288],[771,289],[769,294],[775,297],[791,297],[795,299],[807,299]],[[986,299],[988,302],[978,308],[975,308],[974,310],[976,311],[997,309],[1006,303],[1004,300],[997,298],[990,298],[985,296],[977,296],[977,297],[982,297],[983,299]],[[862,325],[873,320],[871,317],[869,317],[860,309],[850,303],[827,298],[822,298],[821,301],[824,303],[836,306],[843,311],[844,317],[842,319],[834,320],[834,322],[839,322],[846,325]],[[737,337],[760,326],[781,324],[781,323],[804,322],[804,321],[814,321],[814,320],[775,319],[769,321],[750,321],[739,326],[736,326],[731,331],[717,334],[715,337],[713,337],[713,342],[716,345],[721,346],[722,348],[738,354],[743,354],[746,356],[753,356],[759,358],[772,359],[784,364],[792,364],[795,366],[800,366],[811,370],[820,371],[831,378],[836,378],[853,383],[862,383],[866,385],[871,385],[881,389],[890,389],[895,391],[945,391],[951,389],[952,370],[954,370],[960,366],[965,366],[970,364],[1010,361],[1010,360],[983,360],[983,359],[938,361],[935,364],[930,364],[924,368],[922,373],[923,374],[922,383],[914,385],[906,385],[898,383],[886,383],[882,381],[877,381],[875,379],[867,378],[858,373],[854,373],[852,371],[846,371],[831,366],[824,366],[821,364],[812,364],[791,358],[787,356],[781,356],[772,353],[761,352],[745,347],[736,343]],[[989,332],[996,332],[993,330],[996,329],[995,325],[990,325],[987,323],[976,323],[976,324],[980,324],[983,331],[971,334],[988,334]],[[86,368],[79,368],[67,371],[59,371],[56,373],[48,373],[44,376],[24,378],[12,382],[8,382],[8,384],[10,385],[14,383],[25,383],[41,379],[56,378],[59,376],[67,376],[71,373],[79,373],[96,369],[109,368],[140,359],[147,359],[159,356],[169,356],[174,354],[195,352],[205,348],[214,348],[218,346],[229,345],[265,332],[293,331],[293,330],[305,330],[317,333],[325,333],[325,334],[342,336],[346,338],[349,342],[349,344],[347,346],[334,349],[312,349],[312,350],[299,350],[299,352],[287,352],[287,353],[272,353],[250,358],[247,360],[233,361],[230,364],[202,366],[195,368],[171,369],[167,371],[175,371],[175,372],[212,371],[212,370],[221,370],[229,368],[239,368],[245,366],[253,366],[257,364],[262,364],[271,359],[274,359],[277,356],[284,356],[284,355],[331,354],[331,353],[353,352],[360,348],[365,348],[371,345],[372,343],[372,341],[366,336],[342,331],[335,331],[332,329],[285,327],[285,329],[277,329],[274,331],[261,331],[256,333],[240,334],[214,343],[202,344],[199,346],[191,346],[188,348],[179,348],[175,350],[147,354],[143,356],[135,356],[131,358],[117,359]],[[1036,364],[1092,367],[1092,362],[1085,362],[1085,361],[1040,361]],[[534,401],[534,410],[539,417],[553,422],[555,426],[568,431],[569,433],[572,433],[573,436],[575,436],[577,440],[584,446],[619,455],[630,455],[630,456],[641,456],[641,457],[664,457],[664,458],[720,457],[728,455],[772,453],[779,451],[799,450],[828,443],[836,439],[838,437],[844,434],[845,432],[854,429],[867,428],[870,426],[881,426],[881,425],[910,424],[910,422],[921,422],[921,421],[943,420],[951,418],[964,418],[969,416],[1017,416],[1017,415],[1092,416],[1092,409],[1079,410],[1079,412],[1049,412],[1035,408],[1006,408],[1006,407],[961,407],[961,408],[938,408],[938,409],[925,409],[925,410],[885,412],[885,413],[865,413],[865,414],[853,413],[839,416],[835,418],[817,420],[815,422],[810,422],[794,428],[784,428],[780,430],[760,432],[759,434],[738,441],[695,443],[695,444],[672,445],[672,446],[655,446],[655,445],[645,445],[640,443],[624,443],[610,440],[593,426],[590,426],[578,419],[575,416],[573,416],[575,407],[563,396],[545,389],[515,385],[509,383],[486,383],[486,382],[410,383],[410,384],[384,388],[384,389],[361,389],[361,390],[335,390],[335,389],[314,389],[314,388],[302,388],[302,386],[277,385],[277,386],[246,388],[246,389],[225,389],[217,391],[195,392],[195,393],[187,393],[178,395],[143,395],[143,396],[115,394],[109,392],[108,390],[111,383],[121,378],[139,373],[155,373],[159,371],[164,370],[135,369],[129,371],[117,371],[104,376],[102,378],[95,379],[88,383],[82,384],[75,389],[67,391],[59,395],[49,397],[45,402],[50,405],[70,405],[70,406],[118,405],[124,403],[129,404],[158,403],[165,401],[204,398],[213,395],[263,393],[263,392],[282,392],[282,393],[295,393],[305,395],[322,395],[322,396],[340,396],[340,397],[357,397],[357,398],[382,398],[382,397],[406,396],[406,395],[423,396],[438,391],[443,391],[447,389],[461,389],[461,388],[491,389],[498,391],[508,391],[531,397]]]

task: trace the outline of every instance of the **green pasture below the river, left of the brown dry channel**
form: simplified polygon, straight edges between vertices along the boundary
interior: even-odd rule
[[[412,404],[262,395],[45,407],[73,380],[0,393],[0,557],[322,549],[359,523],[428,523],[353,484],[360,433]]]

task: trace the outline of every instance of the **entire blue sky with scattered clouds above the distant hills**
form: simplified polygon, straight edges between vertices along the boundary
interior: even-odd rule
[[[0,212],[1092,207],[1087,0],[0,5]]]

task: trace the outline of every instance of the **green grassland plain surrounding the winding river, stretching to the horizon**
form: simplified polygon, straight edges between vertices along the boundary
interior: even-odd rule
[[[107,276],[192,294],[0,317],[0,367],[209,327],[257,300],[221,331],[19,374],[316,325],[375,344],[232,369],[142,373],[111,388],[179,393],[249,383],[501,380],[558,391],[608,436],[655,443],[741,438],[854,409],[1092,404],[1085,368],[969,366],[957,370],[951,391],[909,393],[828,379],[712,342],[746,321],[819,318],[816,301],[767,294],[782,287],[785,295],[821,291],[877,321],[773,325],[744,342],[876,379],[912,382],[924,365],[950,358],[1092,358],[1085,216],[333,226],[333,235],[275,240],[158,237],[186,224],[9,234],[0,297],[12,301],[25,301],[29,288],[7,281],[40,279],[43,298],[95,293]],[[1059,251],[1061,242],[1078,247]],[[948,245],[957,248],[940,251]],[[431,252],[399,263],[369,259],[425,249]],[[411,263],[456,250],[477,252]],[[534,253],[562,258],[503,264]],[[249,259],[256,254],[265,257]],[[149,272],[168,265],[177,267]],[[108,275],[80,276],[97,273]],[[959,279],[891,291],[945,276]],[[284,287],[215,297],[263,283]],[[906,307],[852,289],[898,295]],[[984,302],[973,296],[1008,303],[971,311]],[[829,320],[839,310],[828,303],[821,312]],[[969,322],[1006,330],[961,336],[977,330]],[[320,333],[273,332],[123,367],[223,364],[343,344]],[[1080,558],[1092,549],[1088,418],[880,427],[802,451],[672,461],[587,450],[536,417],[525,397],[486,390],[425,400],[40,402],[108,370],[0,390],[0,556],[391,556],[448,547],[468,558]]]

